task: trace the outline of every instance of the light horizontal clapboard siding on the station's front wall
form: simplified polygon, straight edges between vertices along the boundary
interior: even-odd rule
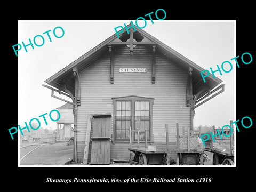
[[[132,56],[126,46],[118,46],[114,52],[113,61],[114,84],[110,84],[109,55],[79,72],[81,106],[78,107],[77,114],[78,161],[83,161],[87,115],[103,113],[113,115],[111,98],[114,97],[136,95],[155,99],[153,105],[153,140],[155,143],[166,142],[166,123],[169,124],[171,143],[176,141],[176,123],[179,123],[180,132],[183,126],[190,127],[191,125],[190,107],[186,107],[188,71],[179,68],[164,55],[156,52],[156,82],[152,84],[150,46],[137,45],[134,47]],[[147,73],[119,73],[119,68],[147,68]],[[113,133],[113,126],[111,133]],[[127,157],[127,145],[119,142],[111,144],[110,158]]]

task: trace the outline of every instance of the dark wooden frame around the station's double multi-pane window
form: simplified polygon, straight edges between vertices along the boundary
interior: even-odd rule
[[[132,128],[135,128],[135,102],[136,101],[149,101],[149,130],[150,130],[150,139],[147,142],[154,142],[153,141],[153,105],[154,105],[154,98],[147,98],[147,97],[139,97],[139,96],[126,96],[126,97],[117,97],[117,98],[112,98],[113,102],[113,133],[112,133],[112,141],[113,142],[130,142],[129,140],[117,140],[116,139],[116,102],[117,101],[130,101],[131,102],[131,125]],[[134,112],[134,113],[133,113]],[[132,142],[137,142],[137,141],[132,141]],[[145,142],[145,141],[140,141],[140,142]]]

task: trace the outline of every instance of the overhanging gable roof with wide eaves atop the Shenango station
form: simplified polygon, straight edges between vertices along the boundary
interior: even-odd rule
[[[128,25],[127,27],[131,26]],[[156,45],[156,51],[162,53],[166,58],[173,61],[173,63],[177,64],[183,69],[188,70],[189,68],[193,69],[193,94],[196,93],[199,89],[202,87],[206,87],[207,91],[212,90],[215,86],[220,84],[222,81],[221,79],[217,77],[213,77],[212,74],[210,74],[207,77],[206,83],[203,82],[202,76],[200,74],[201,71],[204,69],[193,61],[190,61],[177,51],[171,49],[171,47],[165,45],[163,42],[159,41],[157,38],[151,36],[146,31],[136,28],[136,31],[134,33],[139,33],[143,37],[146,37],[148,42],[151,42]],[[120,38],[126,39],[125,37],[127,35],[127,31],[123,30],[122,33],[119,34]],[[58,73],[54,74],[50,78],[45,80],[45,83],[56,87],[57,89],[61,89],[61,86],[63,84],[67,85],[67,89],[71,91],[71,93],[74,94],[74,85],[75,85],[75,79],[73,77],[73,68],[78,67],[78,72],[85,69],[86,67],[90,66],[92,63],[103,57],[104,55],[109,54],[108,53],[108,45],[111,44],[111,42],[121,42],[120,39],[118,39],[117,35],[114,34],[107,38],[105,41],[101,42],[97,46],[95,46],[93,49],[82,55],[77,60],[71,62],[68,66],[58,71]],[[64,83],[65,81],[65,83]],[[65,92],[65,91],[64,91]]]

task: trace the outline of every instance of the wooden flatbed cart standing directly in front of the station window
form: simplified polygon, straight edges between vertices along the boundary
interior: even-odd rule
[[[147,130],[131,130],[130,127],[130,165],[134,162],[138,162],[139,165],[167,165],[168,153],[169,153],[169,134],[168,125],[165,124],[166,128],[166,146],[167,150],[156,150],[150,149],[147,146]],[[132,132],[137,132],[137,148],[132,148]],[[140,132],[145,132],[145,148],[139,148],[140,144]],[[133,158],[134,153],[134,158]]]

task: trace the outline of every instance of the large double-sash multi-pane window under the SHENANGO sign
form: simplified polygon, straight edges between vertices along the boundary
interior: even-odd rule
[[[153,98],[121,97],[113,98],[115,141],[130,141],[132,130],[147,130],[147,140],[152,139]],[[132,141],[137,141],[137,133],[132,133]],[[145,141],[145,132],[140,132],[140,141]]]

